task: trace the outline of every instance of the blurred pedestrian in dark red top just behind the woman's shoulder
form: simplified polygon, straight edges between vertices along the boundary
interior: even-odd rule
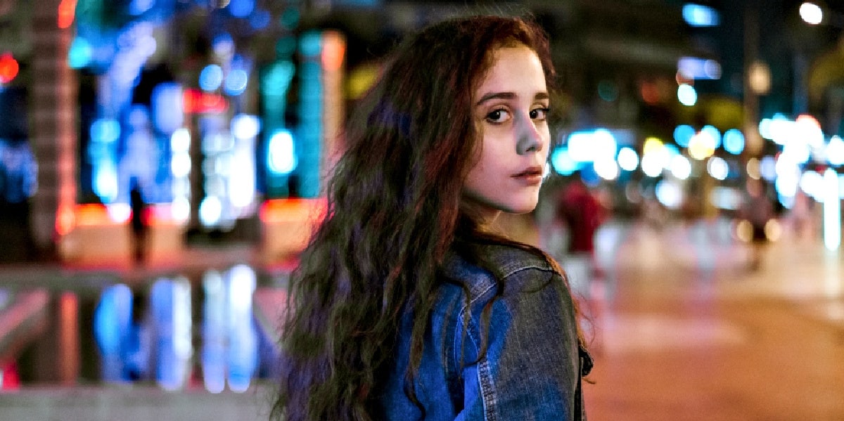
[[[592,278],[597,271],[595,233],[603,224],[606,213],[579,172],[572,174],[570,181],[561,190],[557,215],[569,232],[563,262],[566,273],[569,273],[569,283],[576,292],[588,297]]]

